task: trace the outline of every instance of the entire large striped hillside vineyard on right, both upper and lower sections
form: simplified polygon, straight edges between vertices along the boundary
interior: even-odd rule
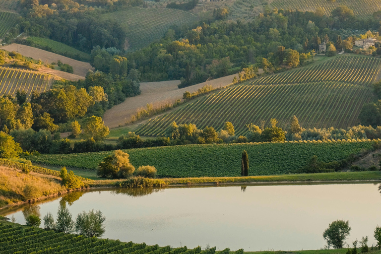
[[[144,136],[162,136],[172,122],[198,128],[221,129],[229,121],[236,135],[246,125],[279,121],[287,127],[296,115],[302,127],[352,127],[364,103],[372,99],[371,84],[380,71],[380,60],[338,56],[320,64],[269,75],[193,101],[136,129]]]

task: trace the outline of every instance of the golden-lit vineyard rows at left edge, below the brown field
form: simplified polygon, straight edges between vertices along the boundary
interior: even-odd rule
[[[17,90],[24,90],[28,99],[32,91],[45,92],[51,84],[50,74],[18,68],[0,68],[0,95],[15,95]]]

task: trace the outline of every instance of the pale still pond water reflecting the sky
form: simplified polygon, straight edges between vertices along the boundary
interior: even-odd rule
[[[375,184],[284,185],[72,192],[41,203],[1,211],[25,224],[60,205],[73,219],[81,211],[106,216],[102,238],[173,247],[245,251],[323,248],[323,231],[337,219],[352,227],[347,243],[381,225],[381,194]],[[43,226],[43,225],[42,225]]]

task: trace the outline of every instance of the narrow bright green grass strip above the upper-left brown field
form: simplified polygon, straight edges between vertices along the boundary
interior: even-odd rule
[[[72,59],[84,61],[84,62],[90,61],[89,54],[79,51],[77,49],[74,49],[61,42],[56,42],[50,39],[33,37],[33,36],[28,37],[26,39],[26,42],[29,46],[47,50],[47,51],[50,51],[50,52],[53,52],[68,58],[72,58]]]

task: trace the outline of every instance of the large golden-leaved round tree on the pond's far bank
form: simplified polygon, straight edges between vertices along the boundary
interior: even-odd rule
[[[112,156],[106,156],[99,163],[97,176],[112,177],[112,178],[127,178],[130,177],[135,168],[129,162],[128,153],[122,150],[116,150]]]

